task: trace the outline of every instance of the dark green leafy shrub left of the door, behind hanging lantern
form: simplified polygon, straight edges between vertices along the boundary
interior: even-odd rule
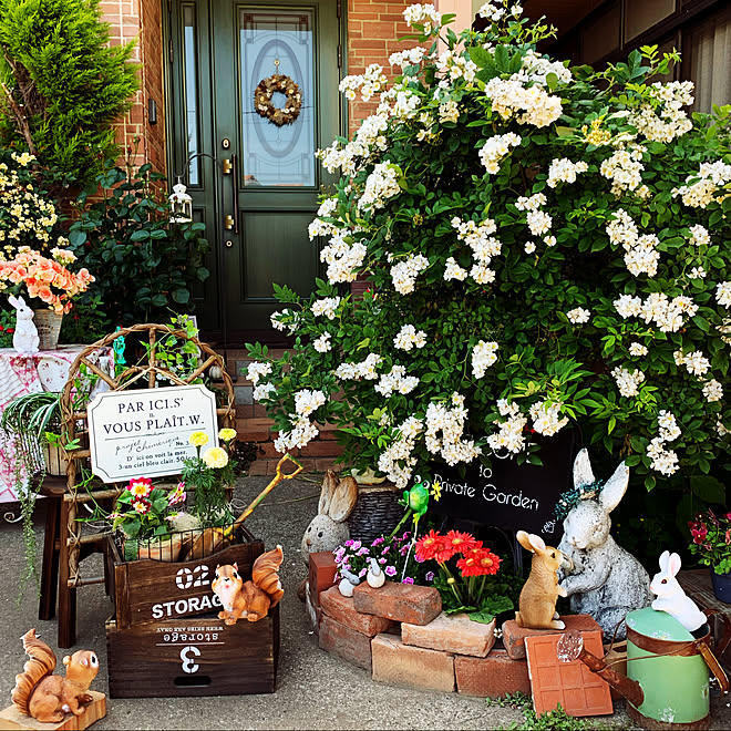
[[[96,276],[109,323],[163,322],[171,310],[193,309],[193,288],[209,276],[205,225],[171,223],[164,177],[150,165],[136,173],[109,167],[96,179],[103,199],[80,196],[69,248]]]

